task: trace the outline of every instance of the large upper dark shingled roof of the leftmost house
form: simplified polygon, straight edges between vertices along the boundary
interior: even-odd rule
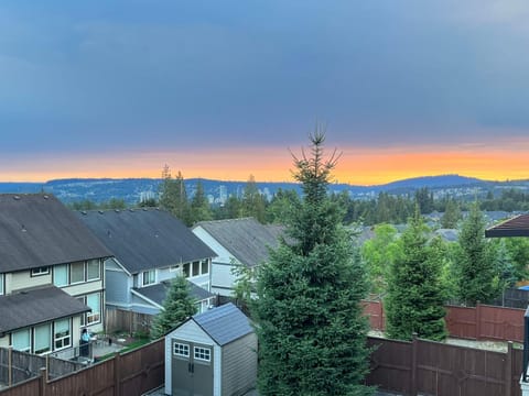
[[[54,196],[0,195],[0,273],[110,255]]]

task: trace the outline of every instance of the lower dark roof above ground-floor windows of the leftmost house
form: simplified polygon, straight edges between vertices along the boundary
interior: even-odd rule
[[[0,296],[0,334],[89,310],[80,300],[55,286],[20,290]]]

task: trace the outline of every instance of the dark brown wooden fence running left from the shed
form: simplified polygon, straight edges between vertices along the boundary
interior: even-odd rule
[[[47,380],[42,369],[41,376],[0,391],[0,395],[141,395],[163,384],[164,365],[164,340],[160,339],[60,378]]]

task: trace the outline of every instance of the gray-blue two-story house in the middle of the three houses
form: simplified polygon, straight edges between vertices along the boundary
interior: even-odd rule
[[[214,304],[209,289],[215,253],[171,213],[143,208],[77,216],[114,253],[105,262],[107,309],[156,315],[176,275],[191,282],[197,311]]]

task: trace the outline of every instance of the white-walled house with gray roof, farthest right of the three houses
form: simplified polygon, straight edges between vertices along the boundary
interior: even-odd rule
[[[214,252],[212,292],[231,296],[237,280],[234,268],[249,268],[268,260],[268,249],[277,248],[283,229],[263,226],[253,218],[201,221],[193,232]]]

